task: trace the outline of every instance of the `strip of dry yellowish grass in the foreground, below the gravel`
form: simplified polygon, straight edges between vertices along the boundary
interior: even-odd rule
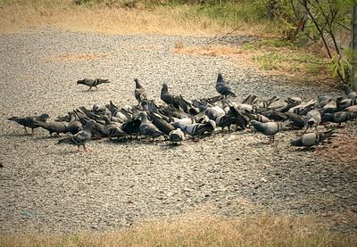
[[[1,235],[1,246],[355,246],[356,235],[329,232],[314,217],[245,219],[187,216],[147,221],[111,233]]]

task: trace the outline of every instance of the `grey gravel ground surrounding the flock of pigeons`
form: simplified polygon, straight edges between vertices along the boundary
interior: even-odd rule
[[[235,37],[239,44],[250,37]],[[289,131],[267,145],[250,131],[220,133],[178,147],[157,142],[92,141],[92,152],[55,145],[45,130],[24,136],[11,116],[46,112],[53,120],[80,105],[134,104],[133,78],[159,101],[162,82],[188,99],[216,95],[221,71],[237,92],[303,99],[328,87],[289,84],[227,57],[172,53],[177,42],[204,45],[206,37],[102,36],[37,29],[0,35],[0,232],[112,230],[145,218],[187,212],[228,217],[260,213],[316,214],[331,218],[357,212],[355,164],[317,152],[298,152]],[[109,78],[93,92],[80,78]],[[323,128],[323,127],[321,127]],[[344,133],[357,132],[355,123]],[[354,154],[355,155],[355,154]],[[332,221],[335,219],[332,218]],[[336,229],[356,231],[357,223]]]

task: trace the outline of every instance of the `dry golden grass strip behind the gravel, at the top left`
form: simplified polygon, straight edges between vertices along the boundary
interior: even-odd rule
[[[187,5],[149,9],[140,4],[137,8],[121,8],[105,4],[88,7],[73,4],[71,0],[0,0],[0,32],[52,26],[103,34],[210,35],[232,29],[208,17],[189,15],[189,9]],[[263,26],[258,24],[252,28],[241,23],[240,31],[259,32]]]

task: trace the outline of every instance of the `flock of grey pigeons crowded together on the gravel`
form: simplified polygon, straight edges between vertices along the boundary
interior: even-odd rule
[[[210,136],[217,128],[228,131],[234,127],[237,131],[253,127],[258,132],[270,137],[274,142],[275,135],[285,129],[303,129],[301,136],[291,141],[291,145],[309,148],[320,144],[332,136],[333,129],[319,132],[318,126],[327,122],[340,126],[347,121],[357,119],[357,94],[350,86],[344,86],[345,95],[330,98],[319,95],[317,99],[303,102],[299,97],[285,100],[284,105],[272,107],[278,101],[276,96],[268,100],[260,100],[255,95],[248,95],[242,103],[235,101],[236,95],[228,86],[221,73],[218,73],[216,90],[220,95],[212,98],[187,101],[182,95],[172,95],[166,83],[162,84],[161,100],[163,105],[147,98],[145,88],[134,79],[136,87],[134,95],[137,105],[119,107],[112,103],[95,103],[92,109],[80,106],[68,112],[67,116],[59,116],[52,122],[48,114],[28,117],[12,117],[25,128],[45,128],[52,136],[54,133],[71,133],[58,141],[58,144],[83,146],[95,138],[132,139],[139,135],[146,136],[149,141],[163,136],[172,144],[181,144],[185,137],[191,136],[199,141]],[[79,80],[77,84],[91,88],[110,83],[108,79]],[[307,133],[309,128],[315,128]]]

